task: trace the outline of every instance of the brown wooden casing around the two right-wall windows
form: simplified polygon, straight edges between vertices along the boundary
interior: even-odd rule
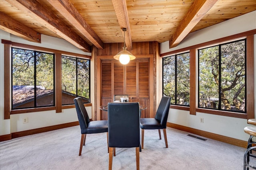
[[[254,37],[255,37],[255,34],[256,34],[256,29],[253,29],[253,30],[238,33],[235,35],[222,37],[220,39],[215,39],[212,41],[207,41],[204,43],[192,45],[190,47],[185,47],[185,48],[177,49],[167,53],[162,53],[160,57],[171,56],[171,55],[182,53],[188,50],[190,51],[190,107],[170,105],[170,108],[186,110],[186,111],[189,111],[191,115],[196,115],[196,113],[200,112],[200,113],[208,113],[208,114],[222,115],[222,116],[228,116],[228,117],[237,117],[242,119],[254,119],[254,112],[255,112]],[[245,42],[246,42],[245,112],[198,107],[198,85],[199,85],[198,84],[198,49],[219,45],[221,43],[224,44],[226,42],[231,42],[236,40],[239,41],[241,39],[245,39]]]

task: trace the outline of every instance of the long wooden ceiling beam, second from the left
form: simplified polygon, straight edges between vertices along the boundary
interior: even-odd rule
[[[6,0],[28,16],[38,20],[45,27],[85,52],[91,52],[90,45],[61,21],[38,0]]]

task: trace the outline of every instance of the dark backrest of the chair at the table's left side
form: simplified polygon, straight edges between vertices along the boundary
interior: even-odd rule
[[[86,131],[87,127],[88,127],[88,123],[90,122],[88,113],[84,107],[83,101],[80,97],[78,98],[74,98],[74,102],[75,102],[75,106],[76,106],[76,113],[78,116],[78,121],[80,124],[80,128],[81,128],[81,133],[85,133],[84,131]]]

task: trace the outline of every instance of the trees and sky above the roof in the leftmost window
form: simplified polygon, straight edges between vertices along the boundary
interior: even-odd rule
[[[36,55],[36,63],[34,63]],[[36,64],[36,86],[46,90],[54,88],[53,55],[12,48],[12,85],[34,86],[34,68]]]

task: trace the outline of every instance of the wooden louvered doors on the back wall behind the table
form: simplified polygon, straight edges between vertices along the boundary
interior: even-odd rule
[[[102,60],[102,105],[113,102],[114,94],[128,94],[129,102],[148,107],[141,117],[149,117],[149,59],[135,59],[127,65],[116,60]],[[107,120],[106,111],[102,119]]]

